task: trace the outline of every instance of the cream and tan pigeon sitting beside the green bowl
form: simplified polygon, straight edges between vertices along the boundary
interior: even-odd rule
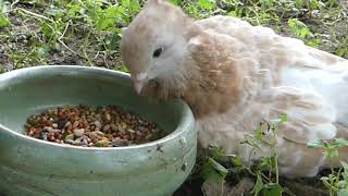
[[[190,106],[202,147],[221,146],[244,161],[273,156],[268,144],[252,154],[240,142],[262,120],[285,113],[279,172],[313,176],[328,159],[307,144],[348,138],[348,61],[271,28],[221,15],[195,21],[150,0],[124,30],[121,50],[138,94]]]

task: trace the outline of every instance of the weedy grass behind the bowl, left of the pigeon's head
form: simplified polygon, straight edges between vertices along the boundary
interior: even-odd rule
[[[13,47],[3,49],[14,68],[45,62],[53,64],[57,62],[54,54],[59,53],[63,59],[64,56],[73,56],[84,64],[109,69],[121,68],[121,28],[130,23],[142,3],[137,0],[60,0],[50,4],[45,1],[21,1],[9,7],[10,2],[5,2],[9,9],[0,14],[1,33],[8,37],[21,34],[27,40],[24,44],[13,41]],[[3,16],[4,13],[9,16]],[[11,21],[15,24],[9,25]],[[40,56],[41,49],[34,52],[36,46],[47,46],[46,60]],[[30,60],[23,61],[28,58]],[[23,62],[24,65],[21,64]]]

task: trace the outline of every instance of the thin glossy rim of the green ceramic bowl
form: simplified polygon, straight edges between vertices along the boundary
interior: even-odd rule
[[[45,65],[36,65],[36,66],[29,66],[29,68],[23,68],[18,70],[12,70],[5,73],[0,74],[0,81],[9,81],[13,79],[16,77],[21,77],[23,75],[26,75],[28,72],[36,72],[38,70],[40,71],[46,71],[48,70],[57,70],[57,69],[64,69],[65,71],[78,71],[78,72],[103,72],[108,73],[110,75],[115,75],[115,76],[121,76],[124,79],[129,79],[130,81],[130,74],[116,71],[116,70],[109,70],[105,68],[98,68],[98,66],[86,66],[86,65],[50,65],[50,64],[45,64]],[[196,123],[195,123],[195,117],[192,114],[192,111],[190,110],[189,106],[182,99],[176,99],[176,101],[179,102],[182,107],[182,117],[179,118],[178,125],[176,128],[170,133],[169,135],[161,137],[160,139],[152,140],[149,143],[145,144],[139,144],[139,145],[134,145],[134,146],[121,146],[121,147],[83,147],[83,146],[73,146],[73,145],[66,145],[66,144],[58,144],[58,143],[52,143],[48,140],[41,140],[37,139],[30,136],[27,136],[25,134],[12,131],[8,126],[3,125],[0,122],[0,132],[5,131],[9,134],[16,136],[21,139],[25,139],[32,143],[38,143],[40,145],[50,145],[53,147],[60,147],[60,148],[67,148],[67,149],[78,149],[78,150],[87,150],[87,151],[109,151],[109,150],[126,150],[126,149],[135,149],[135,148],[146,148],[146,147],[151,147],[156,145],[161,145],[163,143],[167,143],[181,135],[183,135],[185,132],[189,131],[188,126],[191,126],[194,124],[194,127],[196,128]],[[196,131],[196,130],[195,130]]]

